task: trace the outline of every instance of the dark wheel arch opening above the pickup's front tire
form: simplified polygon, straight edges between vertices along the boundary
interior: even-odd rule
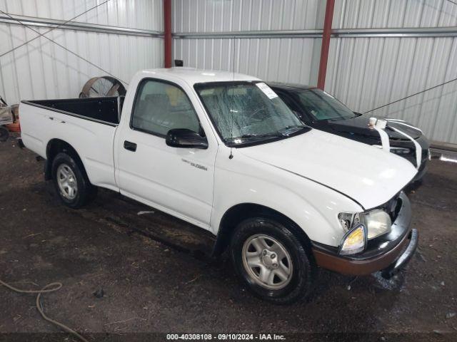
[[[312,257],[311,239],[309,239],[306,232],[304,232],[303,229],[301,229],[301,227],[293,221],[293,219],[290,219],[285,214],[282,214],[275,209],[256,203],[236,204],[224,213],[221,223],[219,224],[219,231],[214,244],[214,257],[219,257],[225,252],[227,247],[229,247],[231,234],[233,234],[237,224],[243,221],[243,219],[258,216],[276,219],[286,225],[286,227],[291,229],[293,234],[296,235],[303,246],[306,247],[306,250]]]

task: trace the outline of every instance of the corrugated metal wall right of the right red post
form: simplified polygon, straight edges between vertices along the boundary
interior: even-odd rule
[[[446,0],[337,0],[333,28],[457,26]],[[332,38],[326,90],[365,112],[457,78],[457,37]],[[375,110],[457,143],[457,81]]]

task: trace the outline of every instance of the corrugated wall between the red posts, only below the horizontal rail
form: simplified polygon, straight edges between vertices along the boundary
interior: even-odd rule
[[[232,70],[233,42],[235,70],[268,81],[316,83],[318,56],[313,38],[209,38],[175,39],[174,58],[185,66]],[[317,51],[320,51],[317,49]]]

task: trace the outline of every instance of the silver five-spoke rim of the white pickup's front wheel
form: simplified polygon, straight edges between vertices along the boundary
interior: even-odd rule
[[[244,242],[243,266],[251,279],[266,289],[283,289],[292,278],[290,254],[278,240],[264,234]]]

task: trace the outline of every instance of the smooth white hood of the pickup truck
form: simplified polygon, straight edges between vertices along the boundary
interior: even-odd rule
[[[416,175],[411,162],[402,157],[320,130],[239,152],[331,187],[364,209],[386,203]]]

